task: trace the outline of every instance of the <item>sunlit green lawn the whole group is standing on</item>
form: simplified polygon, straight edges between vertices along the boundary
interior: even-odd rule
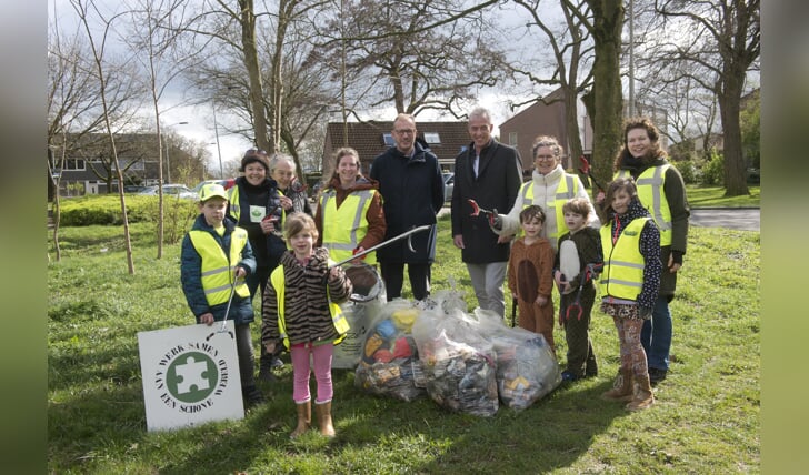
[[[352,372],[336,370],[338,436],[310,432],[292,442],[289,365],[279,383],[262,386],[268,404],[242,421],[147,432],[137,333],[192,323],[179,285],[179,246],[154,260],[152,230],[133,225],[133,276],[120,226],[61,230],[62,261],[48,266],[50,473],[760,472],[758,232],[691,230],[671,305],[673,363],[648,411],[628,413],[598,397],[618,368],[618,342],[611,321],[596,312],[600,375],[560,386],[526,411],[501,407],[476,417],[429,398],[374,397],[353,386]],[[447,218],[439,239],[433,290],[448,289],[452,276],[471,310],[475,296]]]

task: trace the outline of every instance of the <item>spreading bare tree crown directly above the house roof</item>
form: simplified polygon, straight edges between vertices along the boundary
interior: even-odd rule
[[[492,29],[476,14],[493,1],[471,8],[457,0],[342,3],[327,30],[348,36],[324,42],[317,58],[339,79],[344,54],[347,95],[362,98],[358,108],[392,104],[398,112],[435,109],[461,117],[477,88],[501,78],[502,53],[491,48]],[[351,19],[350,29],[343,18]]]

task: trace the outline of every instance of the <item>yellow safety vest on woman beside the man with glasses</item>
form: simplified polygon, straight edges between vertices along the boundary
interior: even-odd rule
[[[349,193],[337,208],[337,192],[328,189],[320,196],[323,218],[323,247],[334,261],[343,261],[353,255],[353,250],[368,234],[368,209],[371,206],[376,190],[360,190]],[[364,262],[377,263],[377,253],[366,254]]]

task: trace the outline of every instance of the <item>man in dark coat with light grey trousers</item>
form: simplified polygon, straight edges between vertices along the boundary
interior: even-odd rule
[[[483,108],[469,113],[472,143],[455,160],[452,190],[452,242],[461,250],[478,305],[503,316],[502,283],[513,236],[498,236],[489,215],[472,216],[468,200],[485,210],[510,210],[522,184],[520,153],[491,137],[491,115]]]

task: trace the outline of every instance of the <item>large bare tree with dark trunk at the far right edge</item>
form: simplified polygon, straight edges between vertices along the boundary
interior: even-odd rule
[[[726,195],[749,194],[739,112],[747,74],[761,52],[760,0],[656,0],[655,9],[682,32],[667,44],[663,64],[692,62],[709,72],[692,79],[719,103]]]

